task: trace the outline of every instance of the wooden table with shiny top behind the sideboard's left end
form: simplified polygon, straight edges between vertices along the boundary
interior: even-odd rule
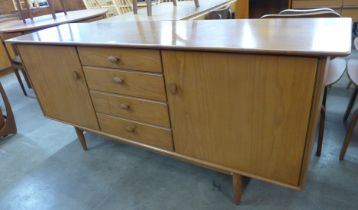
[[[21,20],[0,23],[0,70],[9,69],[11,65],[8,55],[11,57],[14,56],[12,48],[4,45],[4,40],[65,23],[100,20],[105,17],[106,12],[106,9],[77,10],[69,11],[67,15],[64,13],[57,13],[56,20],[49,14],[35,17],[33,22],[27,20],[26,24]]]

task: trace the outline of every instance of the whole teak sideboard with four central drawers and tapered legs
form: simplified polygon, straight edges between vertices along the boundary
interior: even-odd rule
[[[8,42],[43,113],[233,176],[302,190],[326,63],[350,18],[69,24]]]

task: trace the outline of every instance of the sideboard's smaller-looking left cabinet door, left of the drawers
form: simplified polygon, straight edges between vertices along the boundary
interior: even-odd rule
[[[18,49],[44,114],[98,129],[76,48],[19,45]]]

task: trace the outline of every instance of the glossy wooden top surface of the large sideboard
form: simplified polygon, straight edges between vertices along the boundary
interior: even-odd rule
[[[346,56],[351,29],[351,18],[118,21],[65,24],[7,42]]]

